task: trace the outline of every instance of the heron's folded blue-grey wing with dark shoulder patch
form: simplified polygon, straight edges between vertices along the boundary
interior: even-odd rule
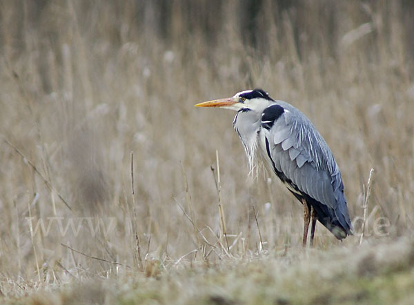
[[[351,228],[341,174],[328,145],[302,112],[284,102],[269,108],[276,106],[282,106],[284,111],[272,126],[267,123],[264,131],[275,170],[326,206],[328,217],[337,219],[346,230]]]

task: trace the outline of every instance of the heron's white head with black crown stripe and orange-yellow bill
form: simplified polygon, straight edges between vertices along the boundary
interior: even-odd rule
[[[215,99],[197,104],[197,107],[221,107],[231,110],[255,110],[262,112],[269,106],[273,99],[262,89],[246,90],[236,93],[233,97],[226,99]]]

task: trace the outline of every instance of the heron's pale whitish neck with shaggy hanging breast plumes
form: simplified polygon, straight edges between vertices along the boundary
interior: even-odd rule
[[[250,172],[253,170],[255,163],[257,132],[259,132],[261,124],[262,112],[248,109],[239,110],[233,121],[233,126],[246,151]]]

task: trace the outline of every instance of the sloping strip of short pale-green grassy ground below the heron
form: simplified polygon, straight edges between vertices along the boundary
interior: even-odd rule
[[[119,270],[82,284],[74,279],[8,304],[411,304],[414,297],[414,242],[406,238],[176,263],[147,262],[151,272]]]

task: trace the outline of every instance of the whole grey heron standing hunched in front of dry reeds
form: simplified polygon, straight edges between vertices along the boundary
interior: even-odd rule
[[[322,135],[300,110],[262,89],[195,106],[237,111],[233,126],[250,170],[256,159],[262,159],[304,206],[304,246],[311,218],[311,246],[317,220],[337,239],[353,235],[339,167]]]

